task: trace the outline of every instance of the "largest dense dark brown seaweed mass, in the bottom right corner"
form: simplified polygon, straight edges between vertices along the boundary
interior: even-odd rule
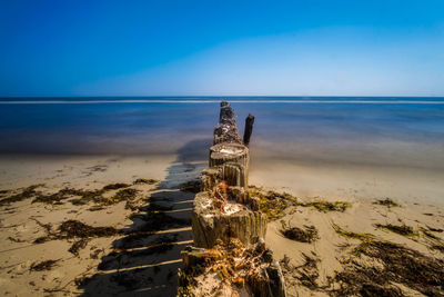
[[[387,241],[362,242],[356,247],[379,266],[350,260],[335,276],[337,296],[403,296],[392,283],[403,284],[427,296],[443,296],[444,263],[421,253]]]

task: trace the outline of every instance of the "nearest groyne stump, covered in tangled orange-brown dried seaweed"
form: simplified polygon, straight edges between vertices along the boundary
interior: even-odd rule
[[[206,296],[204,291],[211,291],[211,296],[240,296],[238,289],[242,287],[249,288],[252,296],[260,296],[259,291],[272,296],[271,286],[280,286],[280,268],[264,245],[245,247],[231,238],[229,242],[218,240],[210,249],[189,246],[181,255],[184,269],[178,271],[178,296]]]

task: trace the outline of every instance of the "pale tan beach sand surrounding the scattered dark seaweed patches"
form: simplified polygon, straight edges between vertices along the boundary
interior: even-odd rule
[[[161,180],[157,185],[133,185],[138,189],[135,206],[125,202],[91,211],[92,204],[75,206],[69,199],[61,205],[36,202],[32,198],[0,206],[0,294],[3,296],[70,296],[128,295],[174,296],[176,269],[181,267],[180,250],[191,242],[193,194],[182,192],[179,185],[199,176],[206,160],[178,161],[176,156],[97,157],[97,156],[2,156],[0,158],[0,189],[8,197],[30,185],[44,184],[38,190],[56,192],[64,187],[100,189],[113,182],[132,184],[138,178]],[[430,249],[423,236],[408,238],[377,229],[375,224],[405,224],[415,229],[444,228],[444,174],[421,168],[382,168],[356,165],[307,166],[285,160],[255,162],[252,159],[250,184],[278,191],[287,191],[301,201],[312,199],[343,200],[352,204],[344,212],[322,212],[311,207],[287,209],[283,218],[289,225],[315,226],[319,239],[312,244],[284,238],[281,222],[269,224],[266,245],[275,258],[290,257],[294,266],[304,264],[303,254],[319,260],[317,285],[340,270],[342,260],[356,245],[355,239],[337,235],[333,224],[355,232],[370,232],[379,238],[400,242],[425,255],[442,258]],[[112,196],[117,190],[107,192]],[[374,205],[376,199],[390,197],[402,207]],[[150,210],[150,204],[162,206]],[[143,207],[144,206],[144,207]],[[33,241],[65,220],[75,219],[90,226],[111,226],[125,231],[143,226],[140,218],[155,212],[182,219],[181,224],[154,224],[154,234],[90,238],[79,255],[68,250],[77,239],[54,239],[42,244]],[[131,216],[139,214],[138,216]],[[434,232],[444,237],[443,232]],[[30,270],[33,264],[57,260],[49,270]],[[83,280],[83,284],[81,284]],[[89,280],[89,281],[88,281]],[[292,279],[289,279],[292,280]],[[289,281],[290,296],[324,295],[311,290],[297,279]],[[405,289],[405,294],[418,295]]]

